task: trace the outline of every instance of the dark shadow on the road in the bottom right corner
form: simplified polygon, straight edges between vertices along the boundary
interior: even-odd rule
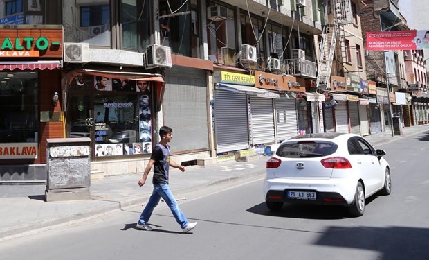
[[[315,245],[380,252],[378,259],[429,259],[428,228],[327,227]]]

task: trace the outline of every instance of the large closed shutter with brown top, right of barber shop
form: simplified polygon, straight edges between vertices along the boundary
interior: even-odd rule
[[[172,150],[208,150],[206,71],[178,66],[165,79],[163,123],[174,130]]]

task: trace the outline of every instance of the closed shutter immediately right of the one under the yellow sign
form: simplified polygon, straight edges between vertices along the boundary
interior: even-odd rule
[[[250,96],[252,144],[275,142],[273,99]]]

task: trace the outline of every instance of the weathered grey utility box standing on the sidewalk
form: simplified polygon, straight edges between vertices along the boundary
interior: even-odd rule
[[[91,139],[46,139],[46,201],[91,198]]]

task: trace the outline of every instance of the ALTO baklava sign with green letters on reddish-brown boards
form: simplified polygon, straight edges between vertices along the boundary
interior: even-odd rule
[[[0,58],[62,58],[62,26],[0,26]]]

